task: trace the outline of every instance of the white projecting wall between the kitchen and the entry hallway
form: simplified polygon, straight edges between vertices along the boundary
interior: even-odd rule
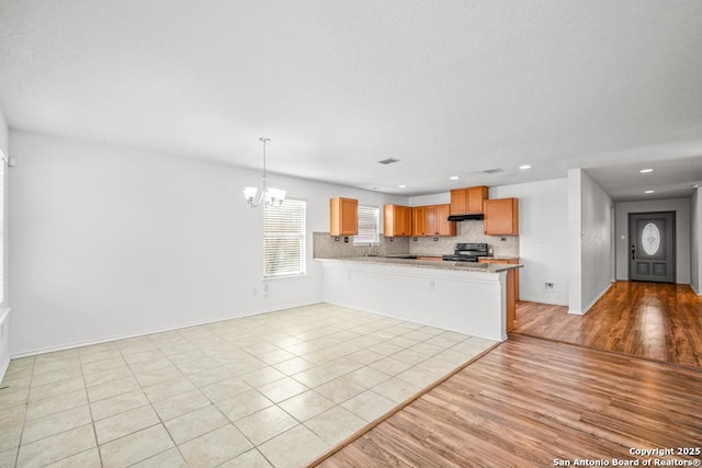
[[[581,169],[568,171],[569,313],[586,313],[610,288],[612,199]]]

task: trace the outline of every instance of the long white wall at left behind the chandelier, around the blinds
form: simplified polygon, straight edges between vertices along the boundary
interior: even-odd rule
[[[262,297],[260,172],[23,132],[10,150],[13,355],[320,301],[329,198],[407,203],[271,174],[307,201],[307,275]]]

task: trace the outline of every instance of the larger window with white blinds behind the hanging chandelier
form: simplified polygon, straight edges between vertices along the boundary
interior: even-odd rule
[[[305,274],[306,202],[263,208],[263,277]]]

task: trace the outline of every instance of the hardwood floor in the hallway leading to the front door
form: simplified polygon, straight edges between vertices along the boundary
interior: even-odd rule
[[[512,333],[702,368],[702,300],[688,285],[616,282],[585,316],[519,303]]]

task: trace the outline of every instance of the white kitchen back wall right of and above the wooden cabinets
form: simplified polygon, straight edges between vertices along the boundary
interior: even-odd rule
[[[490,187],[490,198],[519,198],[520,298],[534,303],[568,304],[568,181]],[[449,193],[410,198],[412,206],[450,203]],[[468,240],[469,241],[469,240]],[[496,243],[499,247],[499,243]],[[546,289],[545,283],[554,283]]]

